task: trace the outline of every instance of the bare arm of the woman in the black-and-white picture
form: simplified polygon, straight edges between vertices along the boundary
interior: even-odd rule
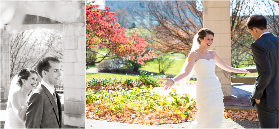
[[[25,104],[24,107],[21,107],[20,104],[20,95],[17,92],[13,92],[12,96],[11,96],[11,106],[12,109],[15,113],[15,116],[21,121],[21,122],[25,122],[26,119],[26,109],[27,109],[27,105]]]

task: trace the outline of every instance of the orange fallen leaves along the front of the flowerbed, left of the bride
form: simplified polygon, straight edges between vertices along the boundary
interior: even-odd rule
[[[118,113],[107,108],[107,104],[102,100],[97,100],[92,104],[86,104],[86,118],[95,120],[106,120],[109,122],[125,122],[141,125],[175,124],[182,121],[192,121],[196,117],[197,108],[189,111],[189,118],[175,114],[175,109],[155,108],[149,109],[149,113],[138,112],[134,107],[123,108]],[[98,108],[100,107],[100,108]],[[99,112],[98,112],[99,111]],[[182,110],[183,112],[185,109]],[[96,113],[98,112],[98,113]]]

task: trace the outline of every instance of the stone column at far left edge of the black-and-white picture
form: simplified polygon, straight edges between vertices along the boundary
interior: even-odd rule
[[[1,29],[1,100],[7,99],[10,89],[10,35]]]

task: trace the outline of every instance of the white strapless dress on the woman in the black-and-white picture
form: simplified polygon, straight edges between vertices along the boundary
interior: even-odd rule
[[[22,108],[24,106],[21,106]],[[12,108],[6,110],[5,129],[25,128],[25,122],[21,122],[14,113]]]

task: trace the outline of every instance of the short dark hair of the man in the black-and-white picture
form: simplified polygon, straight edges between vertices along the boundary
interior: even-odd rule
[[[42,71],[45,70],[45,71],[49,71],[49,69],[51,68],[51,65],[50,65],[50,62],[57,62],[57,63],[60,63],[59,59],[57,58],[57,56],[55,57],[51,57],[51,56],[48,56],[48,57],[45,57],[45,58],[42,58],[38,64],[37,64],[37,71],[38,73],[40,74],[40,76],[42,77]],[[43,77],[42,77],[43,78]]]

